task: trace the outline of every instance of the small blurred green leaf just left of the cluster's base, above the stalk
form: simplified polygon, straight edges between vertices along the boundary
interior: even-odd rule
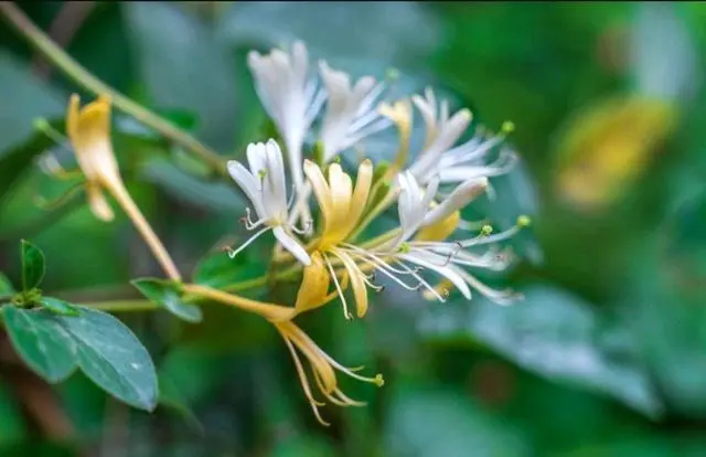
[[[248,255],[239,253],[235,258],[225,252],[211,254],[196,265],[194,281],[204,286],[223,288],[235,283],[247,281],[261,276],[266,266]]]

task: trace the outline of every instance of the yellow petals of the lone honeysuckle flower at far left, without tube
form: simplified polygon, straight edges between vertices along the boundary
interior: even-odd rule
[[[99,96],[79,108],[78,95],[71,96],[66,116],[66,134],[74,147],[76,161],[86,177],[86,194],[90,210],[101,221],[113,221],[113,209],[103,190],[120,185],[118,163],[110,145],[110,98]]]

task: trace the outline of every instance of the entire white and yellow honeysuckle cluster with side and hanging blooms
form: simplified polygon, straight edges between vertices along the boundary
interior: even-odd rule
[[[467,299],[478,293],[499,305],[520,298],[512,290],[485,285],[478,272],[503,270],[512,263],[512,252],[499,248],[498,243],[516,234],[528,219],[518,216],[515,226],[500,233],[488,224],[473,231],[473,224],[461,219],[461,210],[492,189],[494,177],[512,169],[516,157],[505,142],[512,125],[506,123],[498,135],[475,129],[463,140],[471,123],[469,109],[451,113],[448,100],[437,102],[430,88],[422,96],[392,100],[386,83],[372,76],[353,82],[323,61],[318,63],[318,73],[312,72],[300,42],[289,51],[252,52],[248,65],[279,138],[253,142],[242,160],[224,164],[249,200],[242,221],[253,232],[239,246],[229,248],[228,255],[237,256],[271,232],[276,248],[270,273],[280,268],[302,273],[292,304],[261,302],[183,283],[122,183],[110,141],[107,96],[84,109],[72,97],[67,135],[94,214],[106,222],[113,220],[104,196],[109,193],[180,290],[271,322],[291,352],[314,415],[325,424],[318,410],[323,403],[312,386],[335,405],[359,406],[362,403],[343,393],[336,373],[378,386],[383,379],[379,374],[364,376],[360,369],[338,363],[293,322],[297,316],[339,300],[346,319],[363,318],[371,293],[383,289],[379,278],[438,301],[453,290]],[[426,126],[418,150],[413,150],[411,141],[415,108]],[[389,155],[389,162],[363,159],[346,170],[339,160],[342,155],[393,126],[398,145],[379,151]],[[397,224],[375,233],[371,223],[385,213],[396,213]]]

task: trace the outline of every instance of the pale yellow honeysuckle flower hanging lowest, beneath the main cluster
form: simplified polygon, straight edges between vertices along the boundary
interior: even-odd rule
[[[335,375],[336,371],[347,374],[359,381],[370,382],[378,387],[383,386],[385,383],[381,374],[377,374],[375,378],[365,378],[357,374],[356,372],[362,370],[363,366],[351,369],[341,365],[319,348],[317,343],[313,342],[313,340],[293,322],[281,321],[272,323],[282,336],[285,343],[291,353],[295,366],[297,368],[297,374],[299,375],[299,381],[301,382],[301,387],[304,391],[304,395],[311,405],[314,416],[321,424],[329,425],[329,423],[327,423],[319,413],[319,407],[323,406],[324,403],[314,398],[309,378],[307,376],[307,370],[301,363],[301,359],[297,351],[299,351],[309,362],[310,370],[313,374],[314,383],[317,384],[319,392],[325,397],[325,400],[338,406],[364,406],[365,403],[352,400],[341,391],[338,385]]]

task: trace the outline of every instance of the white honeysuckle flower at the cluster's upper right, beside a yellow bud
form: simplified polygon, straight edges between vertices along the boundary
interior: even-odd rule
[[[425,97],[413,96],[413,103],[427,126],[425,146],[409,166],[409,171],[421,184],[436,176],[441,184],[490,178],[504,174],[514,166],[516,156],[507,147],[501,148],[494,162],[486,163],[486,156],[512,131],[512,123],[505,123],[500,135],[488,135],[478,129],[471,139],[453,146],[470,125],[471,111],[463,108],[449,116],[448,100],[437,104],[431,88],[425,91]]]

